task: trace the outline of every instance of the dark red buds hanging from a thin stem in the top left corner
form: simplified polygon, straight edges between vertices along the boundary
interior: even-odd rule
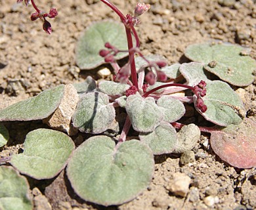
[[[17,3],[21,3],[23,0],[17,0]],[[25,4],[28,6],[30,4],[30,0],[24,0]],[[35,9],[35,12],[32,13],[30,16],[30,19],[32,21],[37,20],[37,18],[43,19],[43,30],[49,34],[52,32],[51,24],[49,21],[47,21],[45,18],[55,18],[58,15],[58,12],[56,9],[52,8],[49,13],[40,11],[33,0],[31,0],[31,3],[33,5],[33,8]]]

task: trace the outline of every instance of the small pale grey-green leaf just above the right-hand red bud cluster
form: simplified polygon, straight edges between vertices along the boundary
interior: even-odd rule
[[[203,64],[199,62],[190,62],[190,63],[185,63],[181,64],[181,67],[179,68],[181,74],[183,77],[186,79],[187,84],[190,86],[195,86],[200,83],[201,80],[209,81],[207,78],[207,75],[209,75],[209,72],[207,72],[203,68]]]

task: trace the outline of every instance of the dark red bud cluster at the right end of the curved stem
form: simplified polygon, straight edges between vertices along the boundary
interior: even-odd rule
[[[206,83],[201,80],[198,85],[196,85],[192,92],[196,95],[196,108],[201,112],[206,112],[207,106],[204,104],[202,97],[206,95]]]

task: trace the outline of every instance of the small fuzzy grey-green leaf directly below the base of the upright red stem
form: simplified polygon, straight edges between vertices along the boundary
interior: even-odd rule
[[[144,133],[154,131],[163,119],[163,113],[152,97],[130,95],[127,97],[125,109],[135,131]]]

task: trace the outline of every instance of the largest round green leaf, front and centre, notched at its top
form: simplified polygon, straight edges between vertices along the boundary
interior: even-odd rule
[[[75,192],[83,200],[105,206],[133,200],[150,184],[153,173],[154,158],[148,146],[139,140],[116,146],[106,136],[83,142],[67,167]]]

